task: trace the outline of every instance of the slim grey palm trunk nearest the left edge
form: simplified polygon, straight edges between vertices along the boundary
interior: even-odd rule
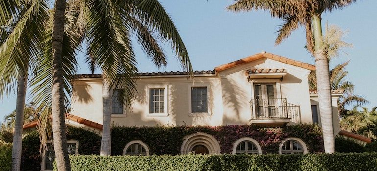
[[[24,123],[24,109],[27,88],[27,76],[21,74],[18,79],[16,120],[14,124],[13,147],[12,147],[12,170],[20,171],[21,148],[22,148],[22,125]]]

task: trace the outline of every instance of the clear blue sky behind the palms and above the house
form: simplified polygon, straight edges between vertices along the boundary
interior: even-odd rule
[[[313,59],[304,48],[305,31],[301,28],[275,46],[278,26],[282,24],[269,13],[228,12],[225,8],[233,0],[160,0],[173,18],[187,47],[195,70],[213,70],[214,67],[259,53],[262,50],[313,64]],[[338,25],[348,30],[345,40],[353,48],[347,54],[333,60],[330,67],[350,61],[347,80],[356,85],[355,94],[370,101],[366,106],[377,106],[377,0],[358,0],[343,10],[335,10],[322,16],[323,23]],[[324,25],[324,24],[323,24]],[[138,68],[141,72],[159,71],[145,57],[137,42],[134,43]],[[165,51],[169,64],[160,71],[181,70],[167,43]],[[77,73],[89,73],[83,61],[84,53],[78,55],[80,68]],[[100,73],[99,71],[97,71]],[[0,102],[0,119],[16,108],[15,95]]]

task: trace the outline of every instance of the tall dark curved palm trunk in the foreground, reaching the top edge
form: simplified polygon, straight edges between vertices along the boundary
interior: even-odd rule
[[[58,171],[71,171],[70,159],[68,158],[67,151],[63,91],[62,45],[65,9],[65,0],[55,0],[54,27],[52,33],[52,133]]]

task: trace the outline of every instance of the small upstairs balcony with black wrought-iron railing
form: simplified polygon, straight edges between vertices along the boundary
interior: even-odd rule
[[[254,124],[277,126],[300,123],[300,106],[288,103],[286,98],[252,99],[250,107]]]

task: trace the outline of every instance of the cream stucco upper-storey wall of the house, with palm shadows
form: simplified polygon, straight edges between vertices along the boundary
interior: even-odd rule
[[[282,80],[248,80],[248,69],[286,69]],[[149,76],[137,81],[137,96],[132,111],[113,114],[112,124],[120,126],[155,125],[231,125],[251,124],[250,100],[254,98],[253,83],[276,83],[276,98],[287,98],[287,102],[300,105],[301,123],[312,123],[311,102],[307,76],[310,71],[290,64],[262,58],[219,72],[217,75],[196,76],[195,80],[185,76]],[[190,87],[207,86],[208,115],[190,115]],[[167,89],[167,114],[149,114],[149,88]],[[165,91],[166,91],[165,89]],[[336,104],[336,100],[335,103]],[[102,80],[79,79],[74,83],[71,114],[102,124]],[[337,108],[334,108],[337,112]],[[334,117],[334,125],[339,126]],[[294,124],[294,123],[290,123]],[[338,130],[338,129],[337,129]]]

